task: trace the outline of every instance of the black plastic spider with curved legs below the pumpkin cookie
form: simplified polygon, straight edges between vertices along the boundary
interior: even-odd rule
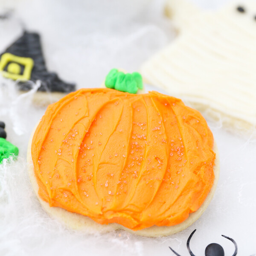
[[[189,242],[190,242],[190,239],[192,238],[192,236],[194,235],[195,231],[196,230],[194,230],[190,234],[189,239],[187,241],[187,248],[188,248],[189,253],[190,253],[191,256],[195,256],[195,254],[192,253],[192,251],[190,250]],[[233,242],[233,244],[235,245],[235,252],[234,252],[233,256],[236,256],[236,254],[237,254],[237,244],[236,244],[236,242],[232,238],[230,238],[230,237],[227,237],[227,236],[224,236],[224,235],[221,235],[221,236],[223,236],[224,238],[227,238],[227,239],[229,239],[230,241]],[[180,254],[176,253],[175,250],[173,250],[171,247],[169,247],[169,248],[172,250],[172,252],[175,255],[180,256]],[[205,256],[224,256],[223,247],[221,245],[215,244],[215,243],[209,244],[205,248]]]

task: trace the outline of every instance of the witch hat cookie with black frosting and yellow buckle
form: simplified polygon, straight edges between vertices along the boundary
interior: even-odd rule
[[[31,90],[31,81],[40,81],[35,95],[38,102],[54,102],[75,90],[74,84],[62,81],[56,73],[47,70],[38,33],[23,31],[17,35],[19,37],[0,54],[0,73],[3,77],[17,81],[20,92]],[[50,98],[47,93],[51,93]]]

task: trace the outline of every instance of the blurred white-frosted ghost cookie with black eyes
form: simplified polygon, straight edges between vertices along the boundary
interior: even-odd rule
[[[169,0],[177,38],[141,68],[145,80],[230,128],[256,125],[256,2],[207,12]]]

